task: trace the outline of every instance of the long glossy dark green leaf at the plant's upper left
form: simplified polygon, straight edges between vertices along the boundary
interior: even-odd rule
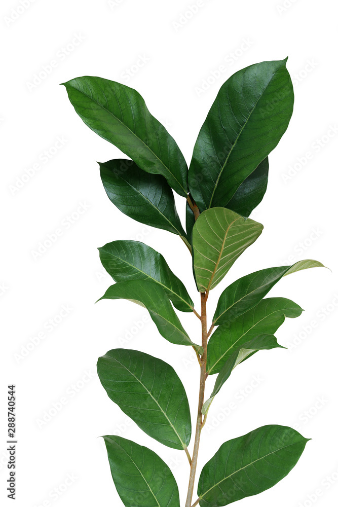
[[[179,195],[187,195],[184,157],[136,90],[92,76],[62,84],[75,111],[89,128],[115,144],[143,171],[162,174]]]

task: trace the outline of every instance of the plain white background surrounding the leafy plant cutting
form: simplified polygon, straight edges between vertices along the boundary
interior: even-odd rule
[[[227,282],[308,258],[321,261],[332,273],[303,271],[274,287],[271,296],[289,297],[306,311],[287,319],[277,332],[289,351],[256,354],[222,388],[203,430],[199,470],[226,440],[264,424],[290,425],[313,439],[304,455],[276,487],[241,505],[335,504],[334,4],[286,0],[281,7],[282,0],[204,0],[194,15],[185,16],[195,0],[113,0],[110,5],[105,0],[22,1],[25,9],[16,0],[1,6],[0,371],[3,415],[6,386],[17,386],[16,505],[122,505],[98,438],[104,434],[121,434],[160,454],[173,469],[184,504],[189,475],[185,455],[147,437],[108,399],[95,375],[97,357],[107,350],[124,346],[165,359],[185,385],[194,425],[197,408],[199,368],[192,351],[166,342],[136,305],[94,305],[110,284],[96,247],[116,239],[138,239],[163,253],[197,305],[199,301],[189,253],[179,237],[128,219],[107,199],[95,161],[117,158],[120,152],[82,123],[59,83],[93,75],[136,88],[190,161],[223,81],[247,65],[287,55],[295,109],[287,133],[270,156],[265,199],[252,214],[264,224],[264,233],[236,262]],[[140,57],[143,66],[138,65]],[[50,74],[41,82],[34,79],[51,60],[55,63]],[[223,72],[217,75],[220,65]],[[130,68],[133,75],[127,78]],[[203,82],[210,84],[201,92]],[[180,212],[182,201],[177,199]],[[62,235],[44,253],[34,255],[60,228]],[[223,282],[210,295],[209,317],[224,287]],[[199,333],[194,315],[180,313],[180,318],[192,337]],[[211,378],[208,392],[212,383]],[[65,404],[55,414],[53,404],[60,408],[61,398]],[[46,422],[48,412],[53,416]],[[2,421],[0,487],[6,497]],[[6,498],[7,504],[12,500]]]

